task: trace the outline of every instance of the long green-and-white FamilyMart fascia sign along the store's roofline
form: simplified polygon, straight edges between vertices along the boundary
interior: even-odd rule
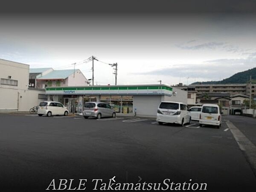
[[[166,85],[47,87],[47,95],[172,95]]]

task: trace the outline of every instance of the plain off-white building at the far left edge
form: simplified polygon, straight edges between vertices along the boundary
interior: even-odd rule
[[[46,98],[29,89],[29,65],[0,59],[0,111],[29,111]]]

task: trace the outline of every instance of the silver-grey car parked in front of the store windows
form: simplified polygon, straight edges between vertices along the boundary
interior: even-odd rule
[[[108,103],[86,102],[84,103],[83,116],[85,119],[89,116],[100,119],[102,117],[116,117],[116,112]]]

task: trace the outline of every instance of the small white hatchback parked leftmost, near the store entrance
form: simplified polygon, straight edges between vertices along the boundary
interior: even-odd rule
[[[52,115],[68,115],[67,108],[60,102],[41,102],[38,106],[38,115],[52,116]]]

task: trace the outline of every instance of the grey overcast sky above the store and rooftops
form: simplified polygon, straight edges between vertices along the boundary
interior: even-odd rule
[[[73,69],[91,79],[95,56],[118,64],[118,84],[191,84],[256,67],[253,14],[1,14],[0,58]],[[95,84],[114,84],[95,61]]]

